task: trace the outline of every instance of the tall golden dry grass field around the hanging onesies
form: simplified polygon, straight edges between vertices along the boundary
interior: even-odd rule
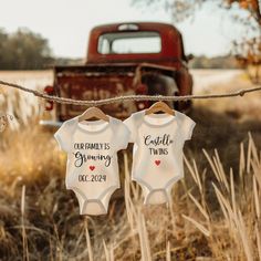
[[[211,90],[249,86],[240,75]],[[4,91],[1,111],[12,103],[20,127],[0,133],[0,260],[261,260],[260,97],[195,102],[185,179],[169,205],[143,205],[129,147],[108,215],[83,217],[65,190],[66,155],[38,125],[41,106],[22,121],[24,97]]]

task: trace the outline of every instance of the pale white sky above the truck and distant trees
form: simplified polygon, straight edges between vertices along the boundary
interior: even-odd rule
[[[140,9],[130,3],[132,0],[0,0],[0,28],[8,33],[28,28],[49,40],[55,56],[84,58],[88,33],[95,25],[126,21],[173,23],[164,10]],[[226,10],[212,4],[175,25],[184,35],[186,53],[207,56],[229,53],[231,41],[242,30]]]

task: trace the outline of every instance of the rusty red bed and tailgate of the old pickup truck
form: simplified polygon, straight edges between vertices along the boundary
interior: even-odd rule
[[[143,73],[173,75],[174,70],[155,64],[90,64],[54,67],[54,94],[74,100],[102,100],[136,94]],[[103,105],[101,108],[118,118],[125,118],[137,111],[133,101]],[[66,121],[81,114],[86,106],[56,104],[56,116]]]

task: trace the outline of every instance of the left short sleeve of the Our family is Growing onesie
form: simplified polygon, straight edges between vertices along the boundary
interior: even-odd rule
[[[56,139],[61,150],[66,153],[71,150],[72,126],[69,122],[64,122],[53,136]]]

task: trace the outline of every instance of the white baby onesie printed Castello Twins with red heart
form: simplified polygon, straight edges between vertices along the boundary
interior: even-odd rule
[[[144,203],[169,202],[173,185],[184,177],[182,147],[196,123],[177,111],[173,116],[145,109],[124,123],[134,143],[132,179],[142,186]]]

